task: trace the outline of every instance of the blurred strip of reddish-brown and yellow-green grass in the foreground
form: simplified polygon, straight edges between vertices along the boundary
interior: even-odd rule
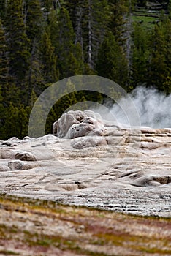
[[[171,255],[171,219],[1,195],[0,255]]]

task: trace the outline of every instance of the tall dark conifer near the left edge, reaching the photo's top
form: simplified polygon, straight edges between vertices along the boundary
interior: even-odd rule
[[[30,53],[29,40],[23,22],[22,0],[9,0],[7,2],[6,30],[9,48],[9,74],[15,78],[17,85],[24,89]]]

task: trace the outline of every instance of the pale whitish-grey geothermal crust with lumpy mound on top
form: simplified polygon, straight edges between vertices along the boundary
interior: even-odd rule
[[[1,193],[171,217],[171,129],[69,111],[53,135],[0,143]]]

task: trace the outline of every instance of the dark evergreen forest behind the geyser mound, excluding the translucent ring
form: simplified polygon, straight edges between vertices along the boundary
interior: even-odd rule
[[[126,91],[137,86],[171,93],[171,1],[0,0],[1,140],[28,135],[31,108],[52,83],[100,75]],[[75,91],[56,103],[103,102]]]

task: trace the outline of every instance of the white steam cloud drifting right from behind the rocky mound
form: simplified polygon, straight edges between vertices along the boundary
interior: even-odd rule
[[[137,110],[140,120],[134,120],[130,101],[134,102],[134,109]],[[129,97],[121,98],[110,110],[99,104],[90,109],[100,113],[102,118],[114,121],[120,127],[130,127],[137,122],[137,127],[171,128],[171,94],[166,96],[156,89],[138,86]],[[129,113],[129,116],[126,113]]]

